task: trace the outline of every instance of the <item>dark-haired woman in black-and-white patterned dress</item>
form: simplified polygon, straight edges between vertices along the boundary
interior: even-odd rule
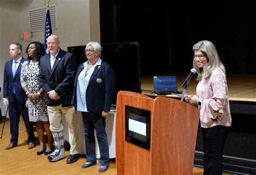
[[[36,122],[40,142],[37,155],[48,155],[53,151],[53,138],[47,112],[47,97],[39,85],[38,72],[40,58],[45,54],[44,46],[38,41],[31,42],[26,48],[28,60],[22,65],[21,85],[28,95],[29,121]],[[44,142],[44,131],[48,137],[48,146]]]

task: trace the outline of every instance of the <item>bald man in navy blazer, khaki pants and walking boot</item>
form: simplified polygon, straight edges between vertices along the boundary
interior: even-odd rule
[[[50,162],[65,158],[62,115],[69,124],[70,156],[66,163],[78,160],[77,118],[72,113],[73,82],[76,73],[74,55],[59,48],[59,39],[51,35],[47,39],[49,53],[41,57],[39,80],[48,94],[47,109],[50,130],[55,141],[56,150],[48,156]]]

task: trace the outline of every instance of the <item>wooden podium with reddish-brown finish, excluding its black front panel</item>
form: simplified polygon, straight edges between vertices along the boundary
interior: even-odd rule
[[[151,111],[150,150],[125,141],[125,106]],[[199,110],[167,97],[120,91],[116,113],[117,174],[193,174]]]

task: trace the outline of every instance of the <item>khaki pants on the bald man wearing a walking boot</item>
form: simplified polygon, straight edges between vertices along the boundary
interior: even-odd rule
[[[50,121],[50,130],[52,132],[63,132],[62,115],[65,116],[66,122],[69,124],[70,135],[70,154],[75,155],[78,153],[78,127],[77,118],[73,117],[72,107],[49,106],[48,115]]]

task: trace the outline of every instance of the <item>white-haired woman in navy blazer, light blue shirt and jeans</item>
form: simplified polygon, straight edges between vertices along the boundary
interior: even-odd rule
[[[105,131],[105,117],[109,115],[114,93],[114,72],[110,65],[102,61],[102,47],[90,42],[85,47],[88,61],[77,69],[73,93],[73,111],[81,111],[83,116],[86,146],[86,163],[82,168],[96,164],[95,130],[99,144],[99,172],[109,167],[109,144]]]

